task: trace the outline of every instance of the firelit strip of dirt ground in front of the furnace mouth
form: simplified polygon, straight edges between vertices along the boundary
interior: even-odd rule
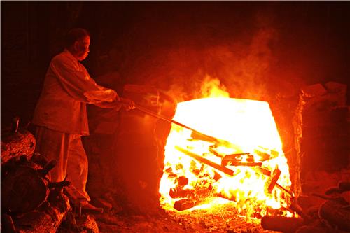
[[[246,222],[232,206],[222,206],[215,210],[163,211],[140,215],[132,213],[103,213],[94,216],[99,232],[228,232],[267,233],[260,220]]]

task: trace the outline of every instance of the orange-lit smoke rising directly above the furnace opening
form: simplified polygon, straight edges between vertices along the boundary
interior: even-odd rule
[[[267,28],[256,31],[248,44],[234,41],[202,50],[170,51],[173,67],[169,67],[172,84],[168,94],[185,101],[208,96],[212,86],[227,91],[230,97],[266,99],[267,87],[274,82],[268,74],[274,62],[269,44],[275,38],[274,29]]]

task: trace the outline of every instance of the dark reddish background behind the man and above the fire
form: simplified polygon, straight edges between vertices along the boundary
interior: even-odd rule
[[[218,78],[231,97],[276,105],[286,125],[302,86],[349,83],[346,1],[1,1],[1,128],[15,115],[30,122],[72,27],[92,34],[92,77],[118,72],[120,86],[153,85],[176,101]]]

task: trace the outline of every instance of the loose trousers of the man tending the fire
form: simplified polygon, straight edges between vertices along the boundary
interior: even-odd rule
[[[57,165],[50,171],[50,181],[66,180],[71,185],[66,187],[73,199],[79,202],[90,201],[87,194],[87,155],[81,142],[81,136],[58,132],[47,127],[36,127],[36,153],[50,160],[56,160]]]

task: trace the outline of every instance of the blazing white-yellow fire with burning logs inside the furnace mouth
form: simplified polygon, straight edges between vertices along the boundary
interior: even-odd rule
[[[173,120],[225,141],[172,125],[160,181],[162,208],[213,208],[220,200],[234,202],[248,217],[276,210],[286,215],[289,169],[269,104],[224,96],[216,90],[210,98],[178,104]],[[268,187],[277,171],[277,184]]]

